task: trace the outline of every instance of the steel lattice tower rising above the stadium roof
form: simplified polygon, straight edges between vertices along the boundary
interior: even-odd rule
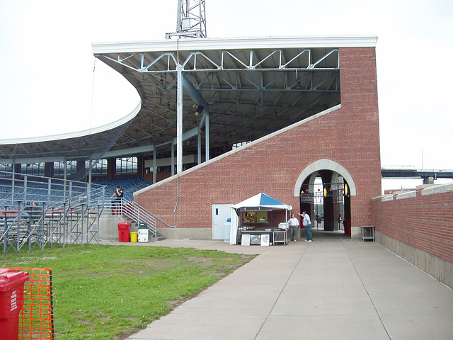
[[[176,33],[165,38],[207,38],[205,0],[178,0]]]

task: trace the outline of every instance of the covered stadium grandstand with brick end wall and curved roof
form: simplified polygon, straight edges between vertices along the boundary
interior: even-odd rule
[[[178,26],[167,38],[93,43],[137,107],[89,131],[0,141],[3,170],[101,183],[104,198],[120,185],[175,238],[217,239],[212,207],[260,192],[312,216],[321,205],[326,230],[341,214],[360,237],[381,193],[377,37],[206,38]]]

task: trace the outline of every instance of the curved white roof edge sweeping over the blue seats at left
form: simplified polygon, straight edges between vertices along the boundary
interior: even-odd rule
[[[88,135],[94,135],[99,132],[112,130],[114,128],[117,128],[118,126],[121,126],[121,125],[127,123],[129,120],[134,118],[137,115],[137,113],[139,113],[140,108],[142,108],[141,100],[139,101],[137,106],[134,108],[134,111],[132,111],[125,117],[115,120],[112,123],[98,126],[96,128],[91,128],[88,130],[81,130],[81,131],[76,131],[76,132],[67,132],[67,133],[62,133],[59,135],[48,135],[48,136],[40,136],[40,137],[25,137],[25,138],[16,138],[16,139],[9,139],[9,140],[0,140],[0,145],[50,142],[51,140],[68,140],[69,138],[77,138],[77,137],[84,137],[84,136],[88,136]]]

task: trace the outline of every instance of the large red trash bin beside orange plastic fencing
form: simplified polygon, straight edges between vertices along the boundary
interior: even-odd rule
[[[19,312],[23,305],[23,284],[28,273],[0,268],[0,334],[1,339],[18,339]]]

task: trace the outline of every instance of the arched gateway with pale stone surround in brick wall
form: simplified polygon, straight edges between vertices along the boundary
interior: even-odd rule
[[[309,212],[314,228],[344,230],[350,235],[350,196],[355,196],[355,183],[343,166],[330,159],[306,166],[294,186],[294,196],[299,196],[301,212]]]

